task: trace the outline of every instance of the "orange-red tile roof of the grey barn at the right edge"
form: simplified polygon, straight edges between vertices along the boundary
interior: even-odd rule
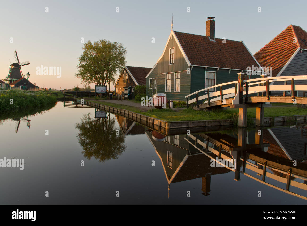
[[[289,61],[297,48],[307,49],[307,33],[299,26],[289,25],[255,53],[254,57],[262,67],[272,67],[274,77]]]

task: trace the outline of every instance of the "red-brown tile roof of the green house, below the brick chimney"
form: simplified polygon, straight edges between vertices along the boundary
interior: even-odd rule
[[[174,31],[192,65],[246,70],[258,66],[243,42]]]

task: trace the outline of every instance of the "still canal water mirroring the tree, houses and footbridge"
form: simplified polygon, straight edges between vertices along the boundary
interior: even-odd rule
[[[0,159],[25,159],[24,170],[0,168],[0,204],[307,204],[304,167],[285,192],[280,165],[267,167],[264,182],[263,166],[251,160],[283,166],[306,160],[302,126],[265,128],[260,147],[257,128],[241,137],[236,129],[165,137],[122,116],[74,106],[57,102],[0,123]],[[223,143],[221,157],[231,158],[238,137],[251,147],[249,167],[243,161],[239,172],[211,167],[216,144]]]

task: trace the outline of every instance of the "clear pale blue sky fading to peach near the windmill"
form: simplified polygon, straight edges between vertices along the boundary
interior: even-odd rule
[[[127,48],[128,66],[153,67],[168,39],[172,14],[173,30],[200,35],[205,35],[206,18],[213,16],[216,38],[243,40],[255,54],[290,24],[307,30],[306,6],[305,1],[284,0],[1,1],[0,79],[7,76],[17,50],[21,62],[30,61],[22,72],[31,74],[32,83],[55,89],[82,87],[74,77],[82,37],[85,42],[120,42]],[[61,77],[36,75],[41,65],[61,67]]]

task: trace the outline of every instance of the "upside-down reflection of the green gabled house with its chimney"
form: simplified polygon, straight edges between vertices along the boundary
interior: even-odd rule
[[[169,186],[171,183],[202,177],[202,191],[208,195],[211,175],[230,172],[225,167],[211,167],[211,158],[191,145],[186,135],[167,136],[164,141],[157,141],[149,132],[145,133],[161,160]]]

